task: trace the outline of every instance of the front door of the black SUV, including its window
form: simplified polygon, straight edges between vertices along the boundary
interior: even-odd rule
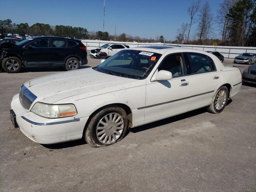
[[[50,66],[49,39],[34,40],[23,48],[26,66]]]

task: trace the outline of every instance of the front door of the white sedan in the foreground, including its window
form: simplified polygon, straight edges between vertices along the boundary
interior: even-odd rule
[[[172,72],[172,79],[146,82],[145,123],[186,112],[189,108],[191,86],[183,54],[166,56],[156,72],[160,70]]]

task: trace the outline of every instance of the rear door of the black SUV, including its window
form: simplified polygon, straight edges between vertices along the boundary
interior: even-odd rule
[[[65,39],[50,38],[51,65],[64,66],[65,59],[70,55],[70,48]]]

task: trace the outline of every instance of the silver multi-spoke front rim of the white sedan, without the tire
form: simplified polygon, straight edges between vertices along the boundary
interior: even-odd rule
[[[96,136],[102,144],[115,142],[124,130],[124,120],[118,113],[109,113],[102,117],[96,126]]]

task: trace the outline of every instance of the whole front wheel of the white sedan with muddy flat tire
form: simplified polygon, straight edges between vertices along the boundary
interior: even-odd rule
[[[110,114],[112,114],[112,121],[110,121]],[[84,138],[92,147],[112,145],[124,137],[127,127],[128,118],[123,108],[105,108],[92,117],[85,130]]]

